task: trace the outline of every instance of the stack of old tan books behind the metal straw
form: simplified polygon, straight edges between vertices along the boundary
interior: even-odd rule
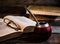
[[[36,16],[38,20],[54,20],[57,16],[60,16],[60,7],[30,5],[28,9]],[[26,14],[29,15],[30,19],[33,19],[28,11]]]

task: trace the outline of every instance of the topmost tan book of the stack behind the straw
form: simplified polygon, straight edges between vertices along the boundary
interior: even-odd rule
[[[30,5],[28,9],[35,15],[60,16],[60,7]],[[29,14],[29,12],[27,12],[27,14]]]

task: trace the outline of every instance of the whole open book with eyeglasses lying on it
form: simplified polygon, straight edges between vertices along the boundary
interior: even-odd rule
[[[24,16],[5,16],[0,19],[0,41],[33,32],[35,25],[35,21]]]

